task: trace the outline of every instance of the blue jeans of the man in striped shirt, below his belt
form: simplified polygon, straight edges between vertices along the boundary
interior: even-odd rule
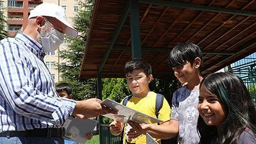
[[[0,144],[64,144],[64,139],[60,137],[40,138],[40,137],[0,137]]]

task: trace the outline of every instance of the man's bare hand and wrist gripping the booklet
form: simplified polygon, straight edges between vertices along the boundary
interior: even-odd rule
[[[95,98],[76,101],[76,107],[74,108],[72,115],[78,118],[90,118],[108,113],[117,114],[115,110],[107,108],[100,103],[101,100]]]

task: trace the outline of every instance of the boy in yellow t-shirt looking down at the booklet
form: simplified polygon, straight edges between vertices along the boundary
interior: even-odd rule
[[[127,78],[128,86],[133,93],[133,96],[127,102],[126,106],[135,109],[142,113],[156,117],[155,115],[155,101],[157,93],[149,90],[149,83],[152,80],[152,69],[148,62],[141,59],[135,59],[125,64],[125,75]],[[123,101],[121,102],[123,104]],[[160,125],[168,125],[170,120],[171,108],[163,99],[162,108],[159,110],[158,118],[163,122]],[[155,124],[157,125],[157,124]],[[112,135],[120,135],[123,130],[124,124],[114,121],[110,124],[110,132]],[[134,135],[138,137],[135,139],[129,139],[127,134],[132,127],[129,124],[125,124],[123,144],[145,144],[146,136],[145,132],[135,132]],[[151,131],[146,131],[151,134]],[[161,144],[160,139],[155,139]]]

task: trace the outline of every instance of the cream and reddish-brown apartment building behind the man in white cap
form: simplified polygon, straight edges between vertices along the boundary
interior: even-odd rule
[[[4,15],[7,18],[6,29],[10,36],[15,36],[17,32],[22,32],[27,26],[27,19],[30,14],[30,10],[35,6],[42,3],[55,3],[62,6],[65,9],[66,16],[69,23],[72,22],[72,18],[79,10],[79,0],[0,0],[0,7],[6,8]],[[59,49],[54,52],[47,52],[44,57],[44,62],[55,82],[62,80],[61,73],[57,69],[56,64],[65,65],[66,61],[59,57],[60,51],[67,49],[66,41],[60,45]]]

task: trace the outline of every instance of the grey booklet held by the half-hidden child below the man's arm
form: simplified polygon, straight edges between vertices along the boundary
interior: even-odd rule
[[[86,133],[92,133],[98,121],[94,119],[68,118],[63,127],[66,129],[64,139],[85,143]]]

